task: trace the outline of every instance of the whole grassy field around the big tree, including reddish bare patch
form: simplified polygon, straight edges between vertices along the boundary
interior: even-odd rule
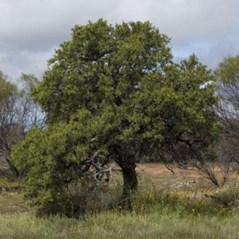
[[[223,200],[232,197],[237,192],[235,178],[218,190],[193,171],[176,170],[172,175],[151,164],[141,165],[138,175],[140,188],[133,196],[132,212],[89,211],[78,219],[37,217],[21,191],[2,191],[0,238],[239,238],[236,208],[229,210],[204,196],[221,193]],[[1,179],[3,185],[15,188],[16,182]]]

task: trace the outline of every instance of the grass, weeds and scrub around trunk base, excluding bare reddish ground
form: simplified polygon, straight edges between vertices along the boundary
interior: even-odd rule
[[[122,182],[114,180],[93,192],[74,192],[75,202],[84,202],[78,218],[39,217],[33,210],[14,213],[14,205],[24,207],[21,193],[1,193],[0,238],[239,238],[236,184],[191,197],[194,188],[159,188],[140,179],[138,192],[131,194],[130,212],[118,206],[121,190]]]

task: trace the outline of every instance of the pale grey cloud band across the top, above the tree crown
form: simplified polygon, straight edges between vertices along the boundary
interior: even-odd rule
[[[227,34],[238,26],[238,0],[1,0],[1,40],[67,39],[75,24],[150,20],[178,39]]]

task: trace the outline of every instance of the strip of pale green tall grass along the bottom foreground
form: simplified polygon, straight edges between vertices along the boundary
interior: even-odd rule
[[[1,215],[0,238],[212,238],[237,239],[239,215],[182,217],[177,211],[144,215],[102,212],[84,219],[36,218],[30,213]]]

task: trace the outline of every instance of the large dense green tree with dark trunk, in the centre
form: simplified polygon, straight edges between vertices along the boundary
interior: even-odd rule
[[[173,63],[168,43],[149,22],[75,26],[33,93],[47,127],[30,132],[14,153],[36,205],[56,205],[69,184],[109,161],[120,166],[128,199],[138,160],[180,161],[211,143],[218,126],[213,74],[194,55]]]

